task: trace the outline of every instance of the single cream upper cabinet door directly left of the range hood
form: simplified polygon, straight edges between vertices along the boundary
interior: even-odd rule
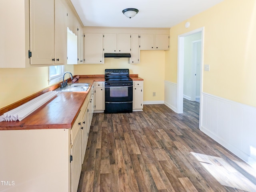
[[[104,63],[103,34],[84,34],[84,63]]]

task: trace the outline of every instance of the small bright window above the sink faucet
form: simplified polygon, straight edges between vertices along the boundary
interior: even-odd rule
[[[48,67],[48,83],[54,84],[62,80],[64,73],[64,65],[56,65]]]

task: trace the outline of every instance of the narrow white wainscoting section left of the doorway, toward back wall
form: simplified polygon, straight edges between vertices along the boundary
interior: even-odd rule
[[[177,84],[164,81],[164,104],[177,113]]]

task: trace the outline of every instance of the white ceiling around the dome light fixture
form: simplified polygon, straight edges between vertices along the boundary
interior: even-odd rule
[[[223,0],[71,0],[84,26],[169,28]],[[134,18],[125,8],[139,10]]]

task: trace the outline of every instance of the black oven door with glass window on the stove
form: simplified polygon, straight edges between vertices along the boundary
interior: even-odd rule
[[[105,82],[105,102],[131,102],[131,83],[108,83]]]

